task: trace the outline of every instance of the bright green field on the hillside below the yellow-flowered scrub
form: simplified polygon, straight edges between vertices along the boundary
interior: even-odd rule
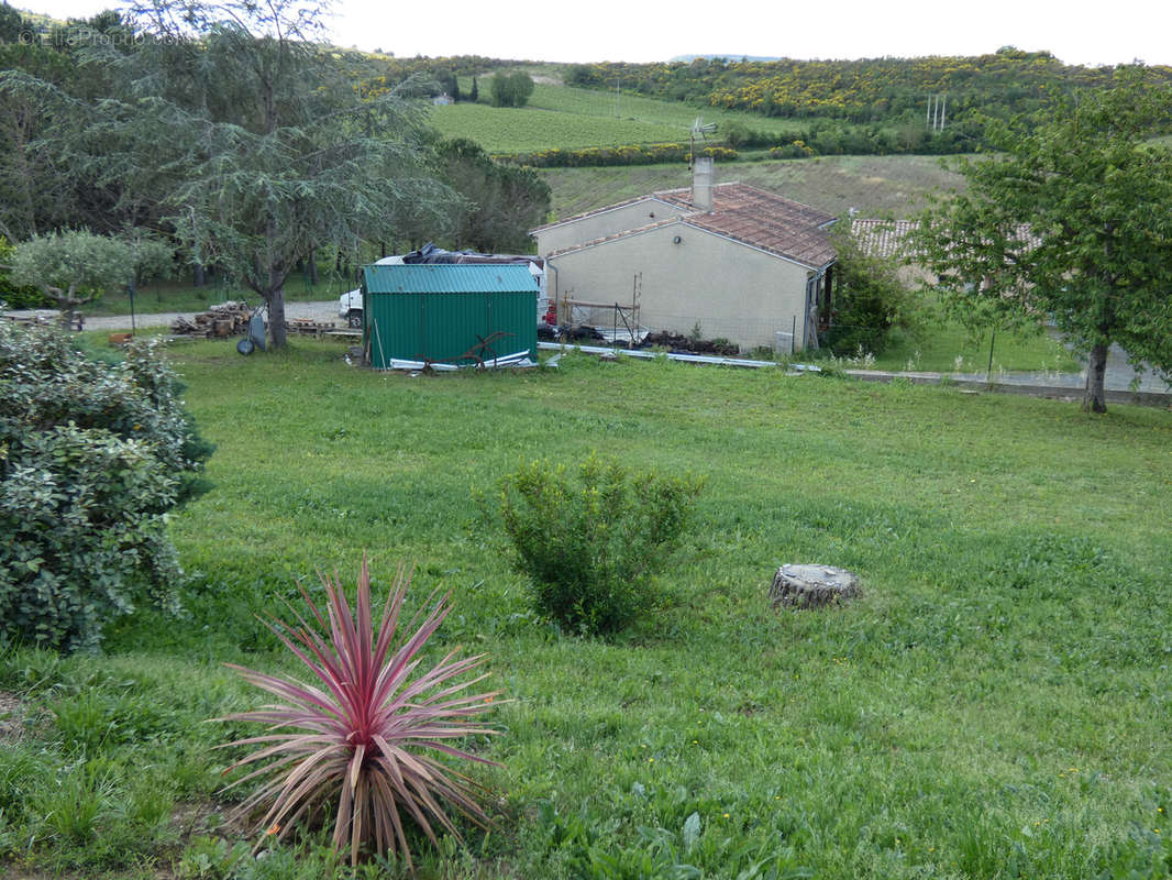
[[[461,83],[465,92],[470,82]],[[479,82],[489,93],[489,77]],[[693,121],[740,121],[758,131],[792,131],[799,126],[747,113],[656,101],[638,95],[575,89],[539,82],[523,108],[458,103],[431,108],[431,124],[447,137],[470,137],[489,153],[533,153],[558,147],[618,147],[631,143],[687,143]]]

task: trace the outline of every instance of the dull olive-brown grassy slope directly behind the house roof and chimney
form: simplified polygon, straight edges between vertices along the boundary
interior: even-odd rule
[[[687,187],[686,164],[634,168],[559,168],[541,175],[553,190],[553,218],[572,217],[661,189]],[[824,156],[820,158],[717,163],[717,180],[779,192],[838,217],[851,208],[864,217],[908,217],[935,190],[962,178],[935,156]]]

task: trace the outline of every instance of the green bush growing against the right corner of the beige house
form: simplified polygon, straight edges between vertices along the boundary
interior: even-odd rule
[[[881,354],[893,327],[919,330],[920,296],[900,280],[893,259],[866,255],[849,233],[834,237],[830,327],[819,340],[836,356]]]

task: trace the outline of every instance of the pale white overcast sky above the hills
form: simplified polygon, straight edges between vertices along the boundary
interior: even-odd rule
[[[12,0],[9,0],[12,2]],[[116,0],[16,0],[82,18]],[[434,6],[336,0],[334,42],[395,55],[488,55],[532,61],[666,61],[675,55],[857,59],[1048,49],[1068,63],[1172,65],[1168,0],[831,0],[686,6],[639,0]]]

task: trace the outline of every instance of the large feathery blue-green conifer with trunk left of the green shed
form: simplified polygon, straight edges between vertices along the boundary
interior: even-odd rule
[[[363,100],[348,57],[315,41],[322,13],[168,0],[138,9],[132,52],[87,47],[97,96],[21,89],[70,122],[57,140],[96,184],[266,300],[277,346],[285,282],[314,248],[389,239],[407,214],[438,223],[451,198],[423,174],[423,77]]]

